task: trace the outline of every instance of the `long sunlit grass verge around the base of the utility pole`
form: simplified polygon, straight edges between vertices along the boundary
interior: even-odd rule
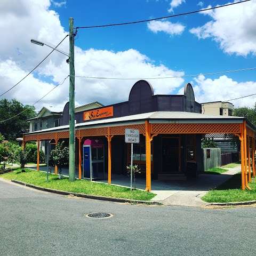
[[[127,198],[135,200],[150,200],[155,196],[143,190],[134,189],[132,192],[129,188],[108,185],[89,180],[76,180],[70,182],[68,178],[58,179],[58,175],[50,174],[49,183],[46,182],[46,173],[26,169],[26,172],[17,171],[0,175],[1,178],[9,180],[19,180],[44,188],[52,188],[74,193],[83,193],[87,195],[108,196],[117,198]]]

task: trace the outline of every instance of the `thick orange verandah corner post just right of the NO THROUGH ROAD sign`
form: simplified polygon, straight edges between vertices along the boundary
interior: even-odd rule
[[[146,131],[146,191],[151,191],[151,129],[148,121],[145,121]]]

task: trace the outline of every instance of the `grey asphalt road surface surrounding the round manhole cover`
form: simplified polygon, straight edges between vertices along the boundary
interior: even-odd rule
[[[255,255],[255,216],[256,207],[127,205],[0,181],[0,255]]]

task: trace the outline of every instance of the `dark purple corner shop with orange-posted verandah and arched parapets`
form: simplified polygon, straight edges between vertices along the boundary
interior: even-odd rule
[[[111,174],[127,174],[130,145],[124,142],[126,128],[140,132],[140,143],[133,148],[133,162],[140,166],[141,175],[146,178],[147,191],[151,190],[151,179],[165,179],[166,175],[196,177],[203,170],[201,139],[204,134],[238,136],[241,140],[242,189],[247,186],[251,174],[255,175],[254,127],[243,117],[201,114],[201,105],[195,101],[191,84],[185,86],[184,95],[154,95],[153,87],[141,80],[133,85],[128,101],[77,112],[75,119],[79,179],[84,177],[82,152],[88,140],[102,142],[102,166],[109,184]],[[66,103],[61,126],[26,133],[23,143],[67,141],[68,122],[69,104]],[[39,170],[39,143],[37,145]],[[248,161],[250,158],[252,163]]]

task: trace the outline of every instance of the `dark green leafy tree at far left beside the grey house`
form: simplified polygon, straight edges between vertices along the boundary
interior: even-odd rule
[[[26,111],[21,113],[25,109]],[[14,141],[16,138],[22,137],[22,133],[29,131],[29,123],[26,120],[36,116],[35,107],[23,105],[15,99],[0,100],[0,121],[11,118],[19,113],[21,114],[9,121],[0,123],[0,131],[9,141]]]

